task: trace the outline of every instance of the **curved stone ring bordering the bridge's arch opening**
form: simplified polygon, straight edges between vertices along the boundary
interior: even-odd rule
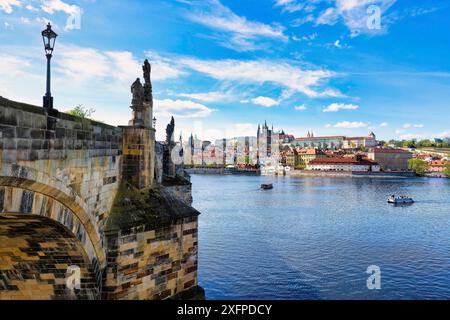
[[[49,177],[35,169],[19,166],[16,164],[4,164],[0,172],[0,189],[3,188],[3,201],[0,199],[0,212],[5,212],[5,201],[16,201],[10,203],[12,213],[32,213],[47,216],[69,229],[81,242],[87,256],[91,260],[97,277],[100,278],[100,270],[106,266],[106,253],[103,246],[103,235],[95,220],[90,217],[87,205],[77,193],[67,186],[63,181],[55,177]],[[16,198],[8,199],[5,192],[16,192]],[[0,194],[0,198],[1,198]],[[20,197],[21,207],[17,207]],[[35,205],[31,212],[24,205],[24,198],[36,198],[41,206]],[[3,203],[2,203],[3,202]],[[52,203],[50,211],[49,203]],[[55,209],[56,208],[56,209]],[[28,210],[29,211],[29,210]],[[10,212],[11,213],[11,212]],[[100,279],[99,279],[100,280]]]

